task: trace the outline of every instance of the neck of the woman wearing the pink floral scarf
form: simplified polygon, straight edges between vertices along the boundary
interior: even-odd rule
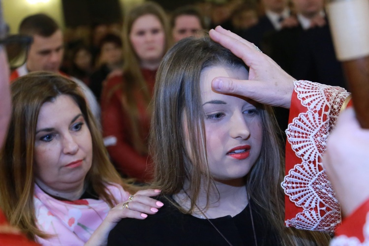
[[[47,194],[62,198],[69,201],[75,201],[78,200],[82,194],[85,192],[85,185],[80,184],[76,188],[73,189],[65,189],[65,190],[56,190],[44,183],[42,183],[40,180],[36,179],[36,184]]]

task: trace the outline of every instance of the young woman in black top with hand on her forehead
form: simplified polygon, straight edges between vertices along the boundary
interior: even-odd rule
[[[124,219],[108,245],[327,245],[330,236],[283,224],[283,158],[272,108],[212,90],[246,80],[245,63],[209,37],[164,56],[154,91],[150,150],[165,206]]]

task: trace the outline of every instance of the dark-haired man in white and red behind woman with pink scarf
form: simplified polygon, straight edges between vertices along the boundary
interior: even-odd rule
[[[60,73],[76,82],[85,94],[92,114],[100,120],[100,107],[91,90],[82,81],[59,71],[64,54],[62,30],[58,24],[45,14],[35,14],[23,19],[19,34],[31,36],[33,42],[27,52],[26,63],[15,69],[10,80],[24,76],[29,72],[48,71]]]

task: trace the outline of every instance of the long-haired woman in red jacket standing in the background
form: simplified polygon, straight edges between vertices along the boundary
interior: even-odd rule
[[[152,179],[147,139],[156,69],[169,47],[163,9],[146,2],[132,9],[123,27],[123,73],[110,75],[101,94],[105,144],[118,171],[139,182]]]

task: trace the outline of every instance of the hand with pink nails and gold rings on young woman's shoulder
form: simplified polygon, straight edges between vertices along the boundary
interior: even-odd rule
[[[101,225],[91,235],[85,246],[104,246],[108,243],[109,232],[122,218],[145,219],[147,215],[154,215],[163,205],[161,202],[150,198],[157,196],[160,191],[146,189],[137,191],[133,200],[128,203],[129,209],[123,209],[123,203],[112,208]]]

